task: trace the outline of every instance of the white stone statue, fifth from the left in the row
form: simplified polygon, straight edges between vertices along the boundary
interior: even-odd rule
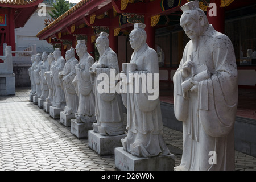
[[[55,48],[53,56],[55,59],[55,64],[52,66],[51,77],[53,78],[53,96],[55,96],[56,99],[53,99],[52,106],[63,108],[66,105],[66,101],[64,90],[61,89],[59,81],[59,72],[63,71],[65,59],[61,56],[59,48]]]

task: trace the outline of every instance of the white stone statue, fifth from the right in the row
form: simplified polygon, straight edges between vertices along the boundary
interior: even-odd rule
[[[76,114],[78,107],[78,97],[76,94],[75,86],[72,81],[76,76],[75,66],[78,60],[75,58],[75,49],[71,47],[66,54],[66,64],[62,72],[59,72],[60,85],[65,93],[66,106],[64,107],[64,114]]]

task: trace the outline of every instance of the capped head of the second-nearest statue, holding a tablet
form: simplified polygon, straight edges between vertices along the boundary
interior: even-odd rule
[[[145,31],[146,25],[143,23],[135,23],[133,31],[131,31],[130,36],[130,44],[131,48],[139,49],[144,44],[146,44],[147,33]]]

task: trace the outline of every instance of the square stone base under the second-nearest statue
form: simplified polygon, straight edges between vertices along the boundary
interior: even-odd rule
[[[152,158],[139,158],[115,148],[115,168],[121,171],[174,171],[174,154],[160,155]]]

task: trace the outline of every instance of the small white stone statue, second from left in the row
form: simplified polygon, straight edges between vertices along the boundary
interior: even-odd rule
[[[41,77],[39,75],[39,72],[41,71],[41,65],[43,64],[42,56],[40,55],[40,53],[36,54],[35,61],[36,61],[36,68],[34,70],[34,80],[36,85],[35,96],[40,97],[42,90],[41,90]]]

